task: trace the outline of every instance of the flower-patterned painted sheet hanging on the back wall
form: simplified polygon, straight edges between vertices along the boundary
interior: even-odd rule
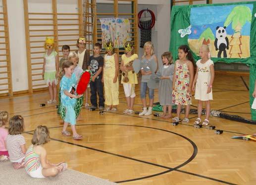
[[[126,18],[102,18],[102,48],[111,40],[114,47],[124,47],[126,41],[130,41],[130,21]]]

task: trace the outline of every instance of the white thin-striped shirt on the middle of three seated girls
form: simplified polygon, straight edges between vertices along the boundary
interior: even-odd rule
[[[26,144],[26,141],[21,134],[7,136],[6,145],[11,162],[21,161],[25,157],[21,150],[22,144]]]

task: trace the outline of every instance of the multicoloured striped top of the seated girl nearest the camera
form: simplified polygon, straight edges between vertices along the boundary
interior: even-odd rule
[[[40,155],[34,152],[33,145],[29,146],[25,155],[25,170],[27,172],[33,172],[37,170],[41,165]]]

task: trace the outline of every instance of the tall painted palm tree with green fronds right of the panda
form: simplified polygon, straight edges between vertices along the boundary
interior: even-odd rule
[[[228,27],[232,23],[232,29],[234,30],[234,34],[231,36],[231,40],[229,42],[230,58],[241,58],[241,55],[243,54],[241,49],[241,31],[247,21],[252,21],[251,9],[247,6],[239,5],[233,8],[233,10],[230,12],[224,22],[224,26],[226,27]]]

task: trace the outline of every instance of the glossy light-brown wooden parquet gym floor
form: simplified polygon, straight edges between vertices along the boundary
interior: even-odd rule
[[[249,76],[216,75],[211,108],[250,119]],[[141,110],[136,87],[135,110]],[[195,129],[197,115],[189,124],[172,126],[170,119],[124,115],[126,100],[120,85],[120,104],[116,113],[82,109],[77,122],[81,141],[61,135],[62,125],[55,105],[40,107],[47,92],[0,99],[10,117],[25,120],[26,145],[37,125],[50,128],[51,142],[45,147],[52,162],[66,161],[69,168],[123,185],[219,185],[256,184],[256,142],[231,139],[253,134],[256,125],[210,117],[210,123],[224,130],[222,135],[208,129]],[[155,91],[155,102],[158,94]],[[193,99],[192,108],[197,102]],[[184,116],[184,115],[182,115]],[[204,118],[204,117],[203,117]],[[68,128],[69,130],[70,127]],[[72,177],[70,177],[72,178]]]

